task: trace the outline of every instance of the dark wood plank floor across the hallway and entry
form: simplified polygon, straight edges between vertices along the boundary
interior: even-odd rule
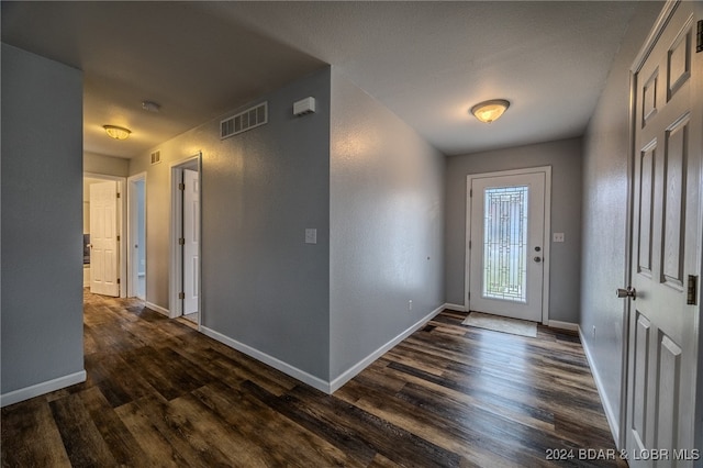
[[[625,466],[578,337],[464,317],[440,313],[330,397],[86,294],[88,380],[3,408],[2,466]]]

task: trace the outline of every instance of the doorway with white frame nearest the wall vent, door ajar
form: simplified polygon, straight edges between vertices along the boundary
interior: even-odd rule
[[[201,154],[171,165],[170,316],[200,326]]]

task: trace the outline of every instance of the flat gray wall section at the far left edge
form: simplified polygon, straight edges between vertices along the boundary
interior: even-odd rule
[[[3,394],[83,370],[81,155],[82,74],[2,44]]]

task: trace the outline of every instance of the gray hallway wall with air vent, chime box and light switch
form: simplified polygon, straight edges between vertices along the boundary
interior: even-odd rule
[[[294,116],[309,96],[316,112]],[[330,69],[265,100],[264,126],[221,141],[216,119],[154,148],[159,165],[132,160],[147,172],[147,301],[169,307],[169,164],[202,152],[202,324],[327,380]]]

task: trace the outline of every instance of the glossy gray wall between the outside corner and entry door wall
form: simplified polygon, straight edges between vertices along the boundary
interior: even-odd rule
[[[445,160],[334,69],[331,148],[334,380],[444,303]]]

